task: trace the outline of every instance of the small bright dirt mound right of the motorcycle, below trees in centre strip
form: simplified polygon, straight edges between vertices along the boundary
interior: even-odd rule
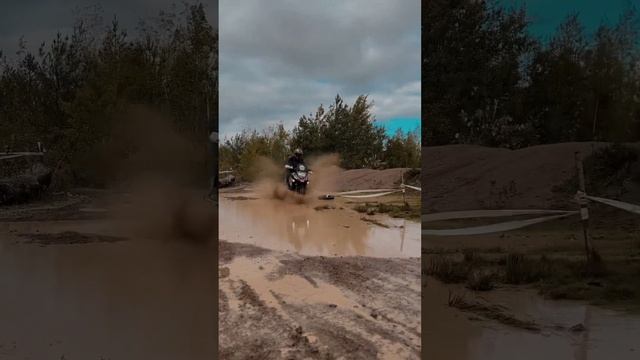
[[[419,171],[410,168],[354,169],[345,170],[339,175],[337,188],[338,191],[397,188],[402,182],[403,174],[405,183],[420,183]]]

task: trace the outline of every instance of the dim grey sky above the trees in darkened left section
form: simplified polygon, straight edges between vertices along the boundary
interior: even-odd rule
[[[193,3],[193,1],[187,1]],[[214,26],[218,19],[217,0],[203,0],[209,21]],[[37,51],[43,41],[49,42],[60,31],[71,32],[77,15],[94,13],[99,8],[104,26],[117,16],[128,33],[135,33],[140,19],[158,15],[161,10],[171,10],[172,5],[182,9],[180,0],[19,0],[2,1],[0,11],[0,50],[7,56],[15,56],[20,37],[27,48]]]

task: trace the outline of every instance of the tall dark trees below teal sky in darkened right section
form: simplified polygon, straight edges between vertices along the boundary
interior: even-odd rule
[[[640,140],[637,10],[593,36],[571,14],[546,40],[527,19],[493,1],[423,3],[422,143]]]

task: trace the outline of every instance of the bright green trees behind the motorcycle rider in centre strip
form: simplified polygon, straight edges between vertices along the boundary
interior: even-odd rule
[[[295,148],[306,158],[338,154],[346,169],[420,167],[418,130],[388,136],[374,123],[372,106],[366,95],[352,105],[337,95],[328,108],[320,105],[314,113],[302,115],[291,131],[282,124],[261,132],[245,130],[220,144],[220,167],[251,178],[257,159],[284,163]]]

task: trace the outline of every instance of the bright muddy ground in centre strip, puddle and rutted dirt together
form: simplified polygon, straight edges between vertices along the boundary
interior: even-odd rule
[[[419,223],[295,200],[220,196],[220,357],[419,359]]]

